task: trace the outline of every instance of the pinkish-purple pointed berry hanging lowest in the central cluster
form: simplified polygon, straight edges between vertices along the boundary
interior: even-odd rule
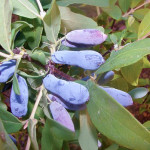
[[[59,122],[61,125],[65,126],[72,132],[75,132],[71,117],[61,104],[54,101],[49,105],[49,109],[55,121]]]

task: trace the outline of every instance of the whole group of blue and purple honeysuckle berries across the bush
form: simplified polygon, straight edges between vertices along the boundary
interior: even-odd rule
[[[103,32],[96,29],[74,30],[66,35],[66,39],[62,41],[62,45],[76,48],[87,48],[95,46],[104,42],[107,38]],[[82,51],[56,51],[51,55],[51,59],[57,64],[75,65],[85,70],[96,70],[103,63],[105,63],[102,55],[93,50]],[[0,82],[4,83],[14,75],[16,67],[16,60],[5,61],[0,65]],[[93,76],[93,74],[91,74]],[[17,117],[22,117],[27,113],[28,105],[28,86],[26,80],[16,74],[20,95],[14,92],[12,86],[10,95],[10,107],[12,113]],[[99,80],[99,88],[106,91],[122,106],[132,105],[133,101],[131,96],[118,89],[103,87],[114,77],[114,72],[109,71],[103,73]],[[87,81],[89,76],[82,80]],[[89,100],[90,95],[88,89],[76,82],[65,81],[55,77],[53,74],[48,74],[43,79],[44,87],[51,92],[49,98],[52,100],[49,105],[50,112],[53,119],[70,129],[75,131],[73,122],[67,110],[82,110],[86,108],[86,102]]]

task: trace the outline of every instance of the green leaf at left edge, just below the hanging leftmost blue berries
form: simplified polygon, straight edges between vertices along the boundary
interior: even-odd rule
[[[18,118],[3,108],[0,108],[0,118],[8,133],[18,132],[23,126]]]

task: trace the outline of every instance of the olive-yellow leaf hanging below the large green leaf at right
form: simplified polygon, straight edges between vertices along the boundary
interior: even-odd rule
[[[121,68],[121,73],[123,77],[126,79],[126,81],[128,81],[133,86],[137,86],[142,68],[143,68],[143,59],[139,60],[134,64]]]

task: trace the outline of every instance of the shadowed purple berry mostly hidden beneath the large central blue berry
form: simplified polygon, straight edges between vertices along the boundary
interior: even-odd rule
[[[57,97],[55,95],[49,94],[48,96],[52,101],[56,101],[56,102],[60,103],[64,108],[69,109],[69,110],[83,110],[86,108],[86,104],[81,104],[81,105],[75,104],[74,105],[74,104],[70,104],[70,103],[64,101],[62,98]]]

